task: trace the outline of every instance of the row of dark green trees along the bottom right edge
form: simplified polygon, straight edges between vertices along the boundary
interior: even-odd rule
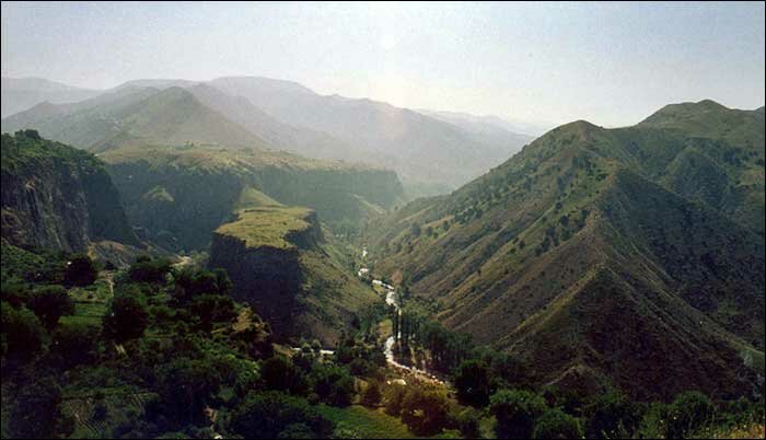
[[[634,402],[612,389],[597,395],[550,386],[535,391],[523,364],[508,355],[494,357],[491,364],[464,360],[453,380],[459,401],[476,408],[461,419],[466,436],[483,414],[495,417],[498,438],[518,439],[686,438],[764,419],[763,401],[713,402],[696,391],[678,394],[671,403]]]

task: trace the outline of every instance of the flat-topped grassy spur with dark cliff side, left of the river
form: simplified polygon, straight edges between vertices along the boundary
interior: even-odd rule
[[[245,208],[214,231],[208,265],[227,269],[235,298],[270,322],[276,338],[316,337],[332,346],[376,297],[325,236],[332,234],[312,210]]]

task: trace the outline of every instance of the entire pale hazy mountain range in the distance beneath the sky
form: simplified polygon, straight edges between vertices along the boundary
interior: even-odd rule
[[[2,129],[34,127],[44,137],[91,151],[188,141],[364,162],[395,170],[414,197],[449,192],[533,139],[499,120],[427,115],[321,95],[290,81],[232,77],[137,80],[74,104],[47,100],[4,117]]]

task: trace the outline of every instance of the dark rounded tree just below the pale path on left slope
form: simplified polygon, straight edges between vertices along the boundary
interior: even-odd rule
[[[143,335],[149,323],[149,313],[141,301],[141,292],[130,286],[118,291],[104,315],[104,333],[117,343]]]

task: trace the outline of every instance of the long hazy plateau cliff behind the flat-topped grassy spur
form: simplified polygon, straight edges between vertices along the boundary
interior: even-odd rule
[[[402,184],[391,171],[282,153],[158,149],[104,154],[130,223],[170,250],[205,248],[231,218],[245,188],[317,211],[323,221],[359,223],[393,206]]]

